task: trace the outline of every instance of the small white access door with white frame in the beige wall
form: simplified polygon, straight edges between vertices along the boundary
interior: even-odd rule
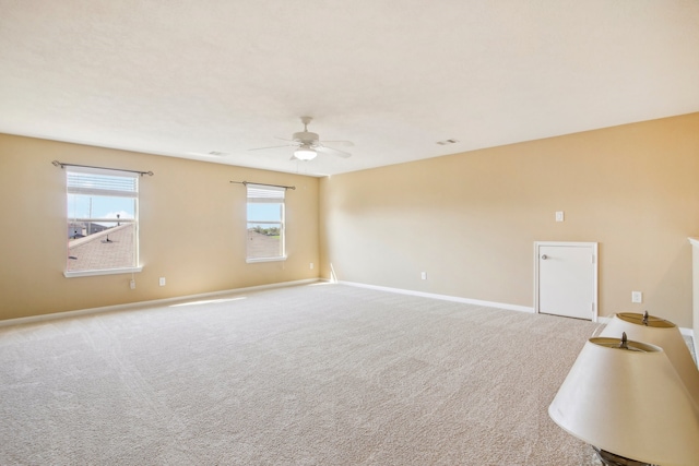
[[[535,243],[536,312],[597,321],[597,243]]]

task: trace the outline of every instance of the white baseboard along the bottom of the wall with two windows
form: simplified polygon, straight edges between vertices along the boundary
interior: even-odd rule
[[[103,312],[128,311],[132,309],[143,308],[146,306],[147,307],[161,306],[161,304],[168,304],[170,302],[187,301],[190,299],[202,299],[202,298],[210,298],[210,297],[215,297],[221,295],[259,291],[263,289],[284,288],[284,287],[296,286],[296,285],[308,285],[308,284],[313,284],[318,282],[320,282],[318,278],[306,278],[306,279],[294,280],[294,282],[282,282],[282,283],[275,283],[270,285],[258,285],[258,286],[250,286],[245,288],[225,289],[222,291],[202,292],[199,295],[177,296],[174,298],[163,298],[163,299],[154,299],[150,301],[128,302],[126,304],[105,306],[102,308],[54,312],[50,314],[32,315],[28,318],[5,319],[5,320],[0,320],[0,327],[29,324],[29,323],[40,323],[40,322],[54,321],[58,319],[76,318],[81,315],[99,314]]]

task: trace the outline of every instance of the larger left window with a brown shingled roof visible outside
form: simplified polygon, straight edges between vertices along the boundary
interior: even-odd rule
[[[66,177],[66,276],[139,272],[138,174],[69,168]]]

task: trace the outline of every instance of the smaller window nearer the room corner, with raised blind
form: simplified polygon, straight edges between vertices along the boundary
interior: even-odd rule
[[[247,184],[248,262],[281,261],[284,250],[284,188]]]

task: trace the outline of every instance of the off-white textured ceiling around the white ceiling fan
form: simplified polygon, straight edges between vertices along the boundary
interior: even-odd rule
[[[694,111],[696,0],[0,0],[11,134],[320,176]],[[304,115],[353,156],[249,151]]]

